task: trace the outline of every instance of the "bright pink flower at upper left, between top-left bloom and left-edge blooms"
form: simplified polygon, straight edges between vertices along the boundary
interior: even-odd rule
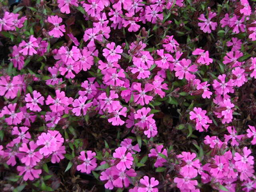
[[[36,47],[39,47],[39,45],[37,44],[37,39],[31,35],[29,37],[29,42],[26,43],[24,40],[22,40],[22,42],[19,44],[19,47],[23,47],[23,49],[21,49],[19,52],[22,53],[24,56],[26,55],[33,55],[36,54]]]

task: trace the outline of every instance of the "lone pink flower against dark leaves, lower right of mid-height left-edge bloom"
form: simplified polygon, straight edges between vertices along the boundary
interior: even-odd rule
[[[33,91],[33,98],[30,93],[28,93],[25,97],[25,101],[27,102],[26,107],[31,111],[42,111],[42,109],[38,106],[38,103],[44,105],[44,97],[41,93]]]

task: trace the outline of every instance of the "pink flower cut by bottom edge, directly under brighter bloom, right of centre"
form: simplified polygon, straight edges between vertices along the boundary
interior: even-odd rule
[[[184,190],[191,190],[195,191],[198,182],[197,180],[191,180],[193,177],[189,177],[187,175],[184,175],[180,173],[180,177],[175,177],[173,179],[173,182],[177,183],[177,188],[179,188],[181,191]]]

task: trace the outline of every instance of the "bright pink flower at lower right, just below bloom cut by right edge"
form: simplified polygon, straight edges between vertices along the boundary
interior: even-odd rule
[[[254,164],[254,157],[249,156],[251,153],[252,151],[247,147],[243,148],[243,156],[237,152],[235,153],[234,160],[236,161],[236,166],[239,168],[239,170],[246,170],[247,166]]]

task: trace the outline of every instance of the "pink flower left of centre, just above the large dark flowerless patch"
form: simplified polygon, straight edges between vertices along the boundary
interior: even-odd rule
[[[86,115],[87,113],[87,109],[90,108],[90,106],[92,106],[92,102],[85,104],[87,100],[87,97],[78,97],[78,99],[75,99],[73,102],[73,107],[74,109],[72,109],[72,112],[75,113],[76,116],[80,116],[81,115],[81,110],[83,111],[83,115]]]

